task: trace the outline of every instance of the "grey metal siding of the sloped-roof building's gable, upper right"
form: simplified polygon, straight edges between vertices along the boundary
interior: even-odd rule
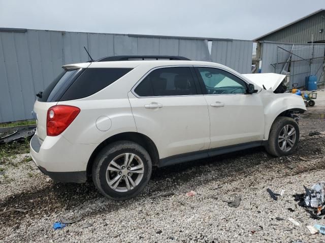
[[[269,41],[281,43],[308,43],[311,42],[311,35],[313,34],[313,41],[325,40],[325,11],[317,13],[297,23],[280,29],[256,41]],[[323,29],[323,32],[319,32]]]

